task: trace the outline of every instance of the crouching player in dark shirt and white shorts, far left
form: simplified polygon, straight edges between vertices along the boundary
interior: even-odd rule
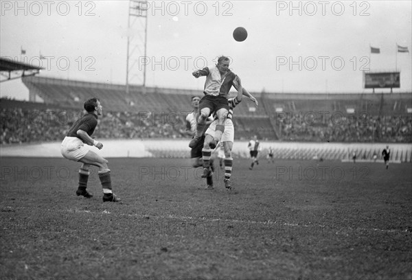
[[[98,98],[91,98],[84,102],[84,109],[87,110],[87,114],[80,117],[71,126],[62,141],[60,151],[66,159],[83,163],[79,170],[79,186],[76,191],[78,196],[84,196],[85,198],[93,196],[86,188],[90,174],[89,167],[95,165],[99,167],[98,174],[103,187],[103,202],[120,202],[120,198],[112,192],[110,170],[107,166],[108,161],[84,146],[84,144],[94,145],[99,150],[103,148],[102,143],[91,138],[98,125],[98,116],[102,115],[102,108]]]

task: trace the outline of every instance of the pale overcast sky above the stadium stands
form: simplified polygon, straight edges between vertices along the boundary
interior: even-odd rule
[[[202,90],[192,71],[225,55],[252,92],[371,93],[363,71],[395,69],[393,91],[412,91],[412,1],[147,1],[146,56],[145,18],[128,27],[129,1],[0,5],[0,56],[45,68],[41,77],[126,84],[129,39],[130,84],[143,83],[146,65],[146,86]],[[233,39],[236,27],[246,40]],[[27,100],[28,90],[12,80],[0,95]]]

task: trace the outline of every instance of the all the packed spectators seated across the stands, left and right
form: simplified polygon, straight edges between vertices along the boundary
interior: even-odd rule
[[[0,143],[61,141],[82,114],[82,110],[1,108]],[[179,139],[185,137],[184,118],[164,113],[108,112],[99,118],[94,136],[97,139]],[[284,141],[412,143],[412,116],[342,117],[323,123],[292,117],[278,118],[274,123],[279,138]],[[235,130],[240,125],[245,124],[237,124],[235,118]]]

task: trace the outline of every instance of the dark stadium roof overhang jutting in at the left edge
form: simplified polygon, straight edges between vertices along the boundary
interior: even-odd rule
[[[36,75],[40,73],[42,69],[44,68],[28,65],[27,63],[23,63],[23,62],[16,62],[8,58],[0,58],[0,74],[3,77],[5,77],[5,79],[0,80],[0,82],[18,79],[23,76]],[[14,77],[12,77],[12,72],[17,72],[17,71],[22,71],[22,72],[14,73],[15,75]],[[26,71],[28,73],[26,73]]]

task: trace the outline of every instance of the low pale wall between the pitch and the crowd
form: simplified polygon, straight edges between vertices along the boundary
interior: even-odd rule
[[[189,158],[190,149],[186,140],[143,139],[143,140],[104,140],[104,148],[91,150],[104,157],[157,157],[157,158]],[[248,141],[235,141],[234,158],[249,158]],[[356,152],[357,161],[373,161],[373,153],[378,159],[380,153],[389,145],[391,161],[396,163],[412,162],[412,146],[409,143],[299,143],[299,142],[263,142],[260,157],[265,157],[271,146],[277,159],[323,159],[334,161],[352,161],[352,152]],[[1,156],[22,157],[62,157],[60,142],[38,143],[31,145],[2,145]]]

